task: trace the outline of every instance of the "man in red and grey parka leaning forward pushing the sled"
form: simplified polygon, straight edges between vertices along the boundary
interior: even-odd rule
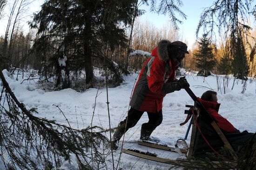
[[[121,121],[115,130],[112,149],[118,148],[117,142],[121,136],[131,127],[135,126],[144,112],[148,113],[148,123],[141,126],[142,140],[148,140],[151,133],[162,123],[163,97],[174,91],[181,90],[189,83],[186,79],[177,81],[175,70],[182,65],[185,54],[189,54],[187,45],[181,41],[170,42],[161,40],[152,51],[141,69],[136,83],[128,116]]]

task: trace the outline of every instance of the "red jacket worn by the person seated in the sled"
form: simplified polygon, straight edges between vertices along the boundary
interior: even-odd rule
[[[235,133],[236,128],[225,118],[223,118],[219,113],[220,103],[212,102],[212,101],[203,101],[198,97],[198,100],[202,103],[202,105],[206,108],[208,113],[212,116],[214,120],[216,120],[217,125],[224,131],[229,133]]]

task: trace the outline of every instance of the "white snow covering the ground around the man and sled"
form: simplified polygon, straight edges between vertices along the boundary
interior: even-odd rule
[[[94,101],[97,94],[96,88],[90,88],[85,92],[77,92],[71,88],[46,92],[36,88],[34,81],[25,81],[22,84],[22,75],[18,76],[18,81],[15,78],[8,76],[7,70],[3,73],[18,100],[29,107],[38,108],[38,116],[54,119],[61,124],[67,124],[65,118],[60,113],[59,109],[53,105],[58,105],[66,115],[69,123],[74,128],[83,128],[90,126],[94,111]],[[132,88],[135,83],[137,74],[124,77],[125,82],[116,88],[108,88],[109,111],[111,117],[111,127],[118,125],[120,120],[123,120],[128,112],[128,103]],[[190,84],[190,88],[196,96],[201,96],[203,92],[212,88],[217,91],[216,76],[203,77],[187,74],[186,78]],[[229,88],[226,89],[226,94],[218,93],[218,102],[221,103],[219,113],[228,119],[240,131],[248,130],[256,132],[256,81],[247,84],[247,90],[241,94],[241,82],[235,84],[232,88],[233,78],[229,83]],[[0,84],[0,89],[2,85]],[[223,91],[223,89],[222,89]],[[105,129],[109,128],[108,124],[108,108],[106,89],[99,89],[98,97],[96,98],[95,114],[93,119],[94,126],[102,126]],[[174,146],[177,139],[184,138],[188,128],[188,124],[179,126],[186,118],[184,110],[186,104],[193,105],[192,99],[185,90],[180,90],[171,94],[167,94],[163,101],[163,121],[152,133],[162,142]],[[145,113],[137,125],[128,130],[125,135],[125,147],[136,146],[135,141],[140,138],[141,124],[148,121],[148,116]],[[190,132],[191,133],[191,132]],[[190,134],[189,133],[189,134]],[[109,137],[109,134],[108,134]],[[187,140],[189,144],[190,135]],[[151,151],[152,149],[149,149]],[[120,149],[114,152],[115,165],[117,164]],[[160,153],[161,154],[161,153]],[[108,169],[112,168],[112,157],[107,157]],[[159,164],[152,161],[144,160],[138,157],[122,154],[119,167],[122,170],[166,170],[172,166],[168,164]],[[62,167],[65,169],[65,166]]]

